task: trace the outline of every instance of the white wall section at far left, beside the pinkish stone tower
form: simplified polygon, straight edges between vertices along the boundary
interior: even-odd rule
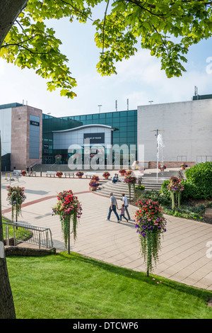
[[[0,110],[1,156],[11,153],[11,108]]]

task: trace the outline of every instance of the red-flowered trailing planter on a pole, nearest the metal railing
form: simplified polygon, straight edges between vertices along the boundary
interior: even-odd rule
[[[65,246],[68,245],[70,254],[70,223],[72,221],[73,239],[76,240],[77,222],[81,218],[82,207],[77,196],[74,196],[71,190],[60,192],[57,200],[57,205],[52,208],[53,215],[59,215]]]

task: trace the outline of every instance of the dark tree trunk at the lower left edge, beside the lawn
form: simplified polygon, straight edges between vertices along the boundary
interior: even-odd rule
[[[0,319],[16,319],[11,285],[8,279],[1,215],[1,132],[0,132]]]

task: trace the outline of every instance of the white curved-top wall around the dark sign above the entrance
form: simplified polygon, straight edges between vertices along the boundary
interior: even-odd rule
[[[84,133],[105,133],[105,145],[111,145],[111,130],[110,128],[91,127],[81,130],[70,130],[64,132],[53,133],[53,148],[54,149],[69,149],[70,145],[83,146]],[[91,144],[93,145],[93,144]],[[102,144],[103,145],[103,144]]]

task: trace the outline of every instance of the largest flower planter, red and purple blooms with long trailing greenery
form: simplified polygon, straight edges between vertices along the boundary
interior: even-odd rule
[[[146,273],[153,270],[153,261],[158,261],[158,252],[161,248],[160,238],[166,231],[166,220],[163,209],[158,202],[152,200],[139,200],[136,205],[135,223],[141,242],[141,254],[146,261]]]

